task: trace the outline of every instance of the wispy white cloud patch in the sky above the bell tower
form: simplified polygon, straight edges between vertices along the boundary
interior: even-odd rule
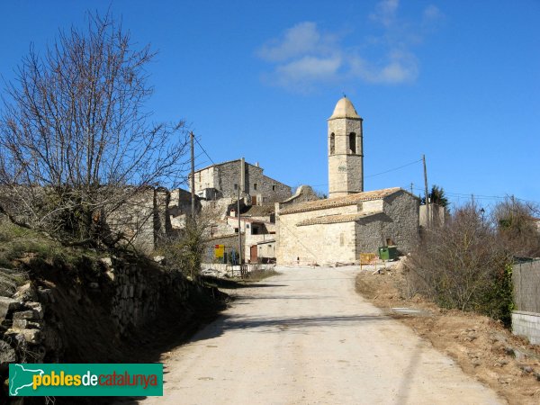
[[[297,23],[257,50],[259,58],[273,65],[266,81],[301,92],[324,83],[358,79],[385,85],[415,81],[419,58],[412,48],[426,35],[425,27],[433,26],[443,14],[435,5],[428,5],[419,22],[411,23],[401,21],[399,7],[399,0],[376,4],[368,18],[382,33],[350,45],[344,44],[346,37],[321,31],[316,23]]]

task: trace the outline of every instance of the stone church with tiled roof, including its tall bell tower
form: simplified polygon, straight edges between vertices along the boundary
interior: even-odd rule
[[[358,263],[361,253],[419,241],[419,198],[400,187],[364,191],[362,118],[343,97],[328,120],[329,198],[276,203],[278,265]]]

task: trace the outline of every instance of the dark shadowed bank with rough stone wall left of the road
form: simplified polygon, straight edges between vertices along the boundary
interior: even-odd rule
[[[188,320],[197,311],[191,302],[216,294],[148,261],[82,257],[74,265],[31,262],[28,268],[30,281],[14,296],[0,297],[3,365],[126,360],[125,339],[164,314]]]

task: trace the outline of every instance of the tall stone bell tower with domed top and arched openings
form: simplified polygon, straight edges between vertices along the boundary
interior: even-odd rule
[[[329,198],[364,191],[362,118],[347,97],[329,118]]]

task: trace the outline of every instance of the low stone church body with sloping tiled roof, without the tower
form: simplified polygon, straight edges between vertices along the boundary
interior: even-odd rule
[[[361,253],[419,241],[419,198],[399,187],[303,202],[276,212],[279,265],[357,263]]]

